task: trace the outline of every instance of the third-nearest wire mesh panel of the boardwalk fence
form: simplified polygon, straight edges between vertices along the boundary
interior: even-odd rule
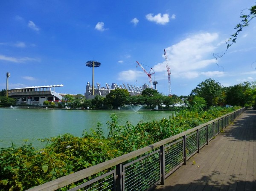
[[[179,139],[165,146],[165,174],[166,177],[177,169],[183,162],[183,139]]]

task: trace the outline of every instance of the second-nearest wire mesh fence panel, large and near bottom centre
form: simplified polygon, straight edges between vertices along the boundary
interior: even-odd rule
[[[160,150],[123,165],[124,191],[145,191],[160,182]]]

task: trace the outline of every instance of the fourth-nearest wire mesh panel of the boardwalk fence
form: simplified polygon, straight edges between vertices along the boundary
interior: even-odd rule
[[[186,137],[186,159],[189,159],[189,157],[191,157],[197,151],[197,132],[194,132]]]

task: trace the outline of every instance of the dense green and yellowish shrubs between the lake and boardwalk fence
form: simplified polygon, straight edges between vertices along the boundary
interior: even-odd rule
[[[190,109],[184,108],[169,118],[150,123],[141,121],[135,126],[129,122],[119,125],[116,115],[111,115],[108,135],[103,134],[102,124],[98,123],[96,130],[84,131],[81,137],[64,134],[41,140],[47,142],[47,146],[40,150],[36,150],[28,142],[18,148],[15,145],[0,148],[0,191],[26,190],[55,180],[156,143],[237,109],[210,107],[205,111],[202,104],[205,105],[205,102],[195,103]]]

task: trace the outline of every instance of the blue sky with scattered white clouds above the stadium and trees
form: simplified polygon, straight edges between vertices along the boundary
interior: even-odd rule
[[[101,62],[94,82],[148,83],[168,94],[188,95],[212,78],[222,86],[256,79],[256,20],[218,60],[252,0],[1,0],[0,89],[63,84],[58,93],[84,94],[92,83],[89,60]],[[246,10],[245,12],[246,13]]]

